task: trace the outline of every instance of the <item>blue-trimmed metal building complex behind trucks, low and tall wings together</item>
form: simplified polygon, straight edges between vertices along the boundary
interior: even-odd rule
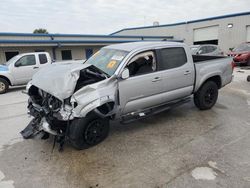
[[[187,22],[127,28],[111,35],[0,33],[0,64],[25,52],[47,51],[55,60],[86,59],[101,47],[141,40],[218,44],[227,52],[250,42],[250,12]]]

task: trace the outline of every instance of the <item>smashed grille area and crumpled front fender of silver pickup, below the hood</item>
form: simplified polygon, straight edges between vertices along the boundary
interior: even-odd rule
[[[91,81],[89,85],[85,85],[88,80],[83,81],[84,86],[78,88],[81,85],[78,80],[73,94],[65,99],[55,96],[56,92],[49,93],[34,84],[30,86],[28,109],[34,119],[21,132],[23,138],[54,135],[64,143],[74,119],[84,118],[91,112],[101,118],[114,117],[117,111],[117,79],[111,77],[95,83]]]

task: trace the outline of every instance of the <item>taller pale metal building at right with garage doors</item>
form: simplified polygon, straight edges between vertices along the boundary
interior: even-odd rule
[[[211,17],[167,25],[127,28],[119,35],[174,36],[192,44],[218,44],[227,52],[240,43],[250,42],[250,12]]]

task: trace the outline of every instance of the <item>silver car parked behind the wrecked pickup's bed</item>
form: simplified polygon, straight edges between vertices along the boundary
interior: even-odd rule
[[[202,44],[190,46],[192,55],[223,56],[223,51],[217,45]]]

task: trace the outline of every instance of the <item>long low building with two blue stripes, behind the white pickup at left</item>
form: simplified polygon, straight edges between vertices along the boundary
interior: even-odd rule
[[[103,46],[141,40],[173,40],[173,37],[0,33],[0,64],[19,53],[40,51],[49,52],[54,60],[86,59]]]

